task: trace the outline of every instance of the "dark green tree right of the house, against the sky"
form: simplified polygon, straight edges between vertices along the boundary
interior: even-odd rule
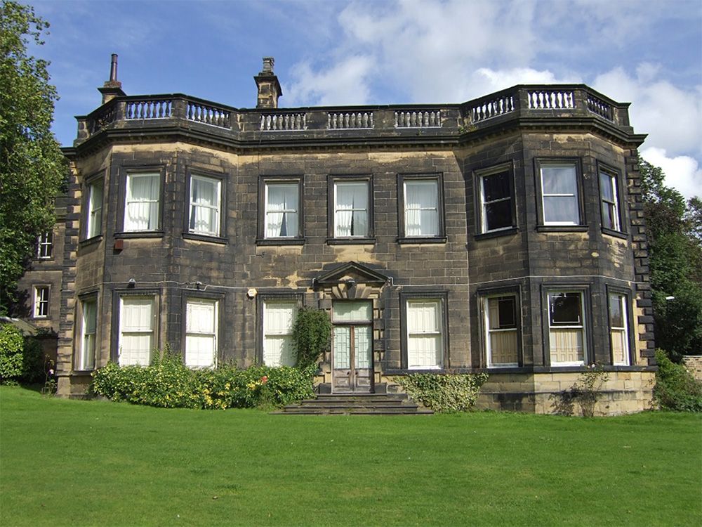
[[[702,202],[665,186],[665,174],[640,160],[649,239],[656,344],[671,357],[702,352]],[[673,297],[673,298],[670,298]]]

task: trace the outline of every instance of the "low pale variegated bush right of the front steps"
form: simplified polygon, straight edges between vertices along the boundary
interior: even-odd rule
[[[396,381],[416,401],[435,412],[466,412],[474,405],[485,384],[486,373],[441,375],[436,373],[415,373],[406,377],[396,377]]]

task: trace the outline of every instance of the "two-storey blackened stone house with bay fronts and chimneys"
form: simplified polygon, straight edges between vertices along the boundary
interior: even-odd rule
[[[246,110],[126,96],[114,63],[78,117],[46,306],[60,395],[166,344],[192,367],[291,365],[296,311],[314,306],[333,324],[322,393],[485,371],[483,408],[552,412],[597,363],[600,411],[649,406],[644,136],[627,104],[558,85],[283,109],[272,66]]]

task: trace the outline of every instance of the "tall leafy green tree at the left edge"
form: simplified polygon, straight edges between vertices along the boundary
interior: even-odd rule
[[[37,236],[53,226],[53,200],[65,174],[50,129],[58,96],[48,62],[27,54],[29,39],[44,44],[47,28],[32,7],[0,5],[0,313],[16,300]]]

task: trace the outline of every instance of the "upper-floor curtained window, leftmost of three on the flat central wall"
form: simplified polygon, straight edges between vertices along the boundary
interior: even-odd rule
[[[265,238],[298,238],[300,235],[300,186],[266,183]]]

